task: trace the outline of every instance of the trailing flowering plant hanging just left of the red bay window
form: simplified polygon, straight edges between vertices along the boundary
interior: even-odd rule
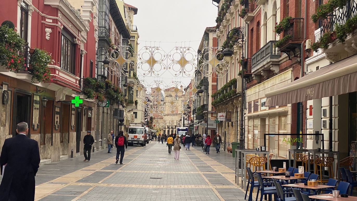
[[[32,82],[48,82],[51,80],[51,71],[48,67],[51,61],[51,56],[48,52],[38,48],[35,49],[30,59]]]

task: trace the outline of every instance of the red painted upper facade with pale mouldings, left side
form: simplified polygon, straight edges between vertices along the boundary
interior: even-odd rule
[[[3,1],[0,7],[0,22],[10,20],[14,23],[15,27],[19,24],[18,11],[20,1]],[[82,50],[86,51],[84,54],[83,62],[83,77],[89,75],[90,60],[95,67],[95,38],[94,38],[94,25],[91,22],[88,24],[84,20],[80,20],[79,17],[67,6],[64,1],[58,0],[53,4],[59,5],[45,5],[43,0],[32,0],[32,5],[28,1],[29,13],[33,9],[31,20],[29,19],[29,46],[31,48],[39,48],[46,50],[51,54],[54,63],[50,65],[52,74],[52,80],[57,85],[69,87],[70,89],[79,92],[80,91],[80,74],[81,74],[81,46]],[[33,6],[33,7],[32,7]],[[56,7],[53,7],[56,6]],[[57,7],[58,6],[58,7]],[[93,14],[91,14],[93,19]],[[49,39],[46,39],[45,29],[51,29],[49,33]],[[74,74],[68,71],[60,69],[60,57],[61,57],[61,32],[66,30],[77,41],[75,44],[75,56],[74,56]],[[83,34],[81,34],[83,33]],[[84,34],[85,33],[85,34]],[[86,37],[85,37],[86,35]],[[84,42],[86,41],[86,42]],[[81,43],[83,43],[81,45]],[[94,76],[94,70],[92,71]]]

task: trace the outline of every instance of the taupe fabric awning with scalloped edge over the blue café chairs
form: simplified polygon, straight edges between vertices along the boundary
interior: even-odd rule
[[[265,106],[286,105],[357,91],[357,55],[267,92]]]

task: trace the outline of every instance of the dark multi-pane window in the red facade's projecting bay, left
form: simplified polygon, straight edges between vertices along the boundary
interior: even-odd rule
[[[73,39],[70,39],[70,35],[67,34],[64,30],[62,30],[61,35],[61,63],[60,67],[63,70],[74,74],[75,70],[75,45]]]

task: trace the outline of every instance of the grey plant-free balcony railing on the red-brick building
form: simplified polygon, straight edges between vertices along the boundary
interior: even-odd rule
[[[271,40],[267,42],[260,50],[258,50],[252,56],[252,72],[258,70],[259,65],[265,61],[270,59],[279,59],[280,51],[277,47],[275,47],[276,40]]]

